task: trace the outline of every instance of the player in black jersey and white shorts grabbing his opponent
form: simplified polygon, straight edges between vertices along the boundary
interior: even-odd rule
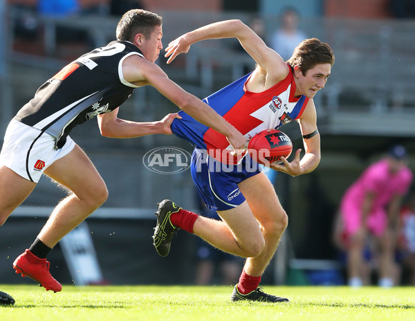
[[[46,255],[57,242],[100,207],[107,186],[82,149],[68,136],[77,125],[98,116],[102,136],[132,138],[172,134],[170,114],[158,122],[118,118],[119,106],[134,89],[151,85],[180,109],[221,132],[238,153],[246,139],[203,103],[169,80],[154,62],[163,49],[162,18],[145,10],[126,12],[117,41],[82,55],[45,82],[10,122],[0,154],[0,225],[33,191],[42,174],[71,194],[53,210],[35,242],[13,267],[46,290],[61,291],[50,275]]]

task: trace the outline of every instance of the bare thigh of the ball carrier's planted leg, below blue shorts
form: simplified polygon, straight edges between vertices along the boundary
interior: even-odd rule
[[[238,186],[262,226],[277,229],[286,227],[286,212],[279,203],[274,186],[263,172],[242,181]]]

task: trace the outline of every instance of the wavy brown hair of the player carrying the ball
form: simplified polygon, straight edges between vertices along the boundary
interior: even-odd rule
[[[328,44],[317,38],[303,40],[295,49],[287,64],[298,66],[303,75],[316,64],[334,64],[334,54]]]

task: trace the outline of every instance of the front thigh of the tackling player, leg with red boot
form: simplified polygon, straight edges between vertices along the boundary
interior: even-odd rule
[[[45,174],[64,185],[78,197],[107,199],[108,191],[104,180],[84,151],[75,145],[66,156],[59,158]]]

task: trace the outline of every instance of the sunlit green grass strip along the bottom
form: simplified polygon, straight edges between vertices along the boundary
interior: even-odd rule
[[[0,320],[415,320],[415,288],[265,286],[291,302],[230,302],[231,286],[1,285],[15,298]]]

